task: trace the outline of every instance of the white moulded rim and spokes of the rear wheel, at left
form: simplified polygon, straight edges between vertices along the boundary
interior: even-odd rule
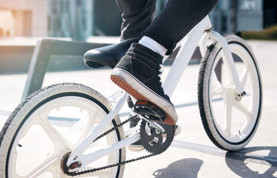
[[[63,112],[70,112],[68,116],[73,116],[73,107],[74,109],[80,108],[80,111],[82,109],[82,112],[80,113],[87,113],[84,114],[85,116],[81,117],[79,120],[74,120],[74,117],[71,117],[71,121],[69,121],[69,123],[72,125],[71,127],[69,126],[69,128],[65,129],[59,125],[55,125],[59,123],[59,121],[57,123],[50,122],[51,117],[49,114],[59,113],[55,113],[55,110],[53,109],[62,108]],[[75,146],[78,145],[78,143],[80,143],[91,132],[91,127],[93,127],[94,124],[99,123],[105,115],[107,115],[106,112],[96,103],[93,103],[93,101],[89,99],[78,96],[64,96],[55,98],[48,103],[45,103],[28,117],[27,121],[24,123],[24,125],[21,126],[21,129],[17,133],[11,148],[12,151],[10,152],[8,177],[68,177],[68,175],[65,175],[60,168],[60,161],[63,155],[75,148]],[[109,125],[109,128],[111,127],[114,127],[112,123]],[[41,130],[42,128],[43,131]],[[107,130],[109,128],[107,128]],[[40,134],[39,139],[35,138],[38,134],[37,131],[39,131]],[[33,134],[30,135],[30,133]],[[40,153],[42,150],[26,150],[25,147],[28,148],[28,145],[30,145],[27,144],[30,139],[26,139],[26,137],[29,138],[29,135],[30,138],[33,138],[38,143],[33,143],[33,145],[37,145],[38,148],[45,148],[46,152],[48,152],[48,155],[44,155],[42,158],[39,157],[39,159],[42,159],[42,161],[36,160],[38,159],[38,155],[40,155],[37,154],[37,152]],[[48,138],[46,138],[47,136]],[[115,143],[117,139],[118,137],[116,132],[111,132],[111,134],[107,135],[105,139],[100,139],[101,141],[99,142],[96,141],[97,144],[91,144],[91,147],[89,150],[87,150],[87,152],[90,152],[91,150],[98,150],[98,148],[101,148],[101,146],[105,147],[106,145],[111,145],[111,143]],[[39,145],[39,140],[44,141],[42,144],[45,145]],[[52,142],[53,144],[46,144],[45,142]],[[24,143],[26,145],[24,145]],[[19,144],[23,146],[19,147]],[[53,148],[50,148],[50,146]],[[111,163],[117,163],[118,157],[119,152],[112,152],[111,154],[107,155],[107,157],[97,161],[100,165],[97,163],[92,163],[89,165],[89,168],[96,168],[100,166],[106,166]],[[26,158],[26,160],[23,160],[23,158]],[[24,161],[26,161],[26,164],[22,163]],[[30,167],[29,164],[32,164],[32,166],[28,170],[26,167]],[[109,168],[78,177],[116,177],[117,170],[117,167]]]

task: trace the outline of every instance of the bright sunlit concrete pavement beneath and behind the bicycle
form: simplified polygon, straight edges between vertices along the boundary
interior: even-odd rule
[[[249,42],[255,53],[263,84],[263,109],[258,131],[240,152],[225,152],[211,143],[204,132],[197,105],[199,65],[184,72],[172,103],[177,108],[181,134],[163,154],[125,166],[129,177],[277,177],[277,42]],[[166,72],[169,66],[166,66]],[[109,69],[46,73],[44,86],[57,82],[78,82],[109,96],[117,87],[109,80]],[[19,104],[26,74],[0,75],[0,124]],[[121,116],[127,116],[125,106]],[[145,152],[127,150],[127,159]]]

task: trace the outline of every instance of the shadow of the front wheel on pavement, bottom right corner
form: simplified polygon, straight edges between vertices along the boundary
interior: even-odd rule
[[[261,156],[259,154],[261,152],[267,152],[268,155]],[[227,152],[225,161],[227,166],[240,177],[277,177],[277,147],[253,147],[239,152]],[[255,166],[255,164],[267,166]]]

